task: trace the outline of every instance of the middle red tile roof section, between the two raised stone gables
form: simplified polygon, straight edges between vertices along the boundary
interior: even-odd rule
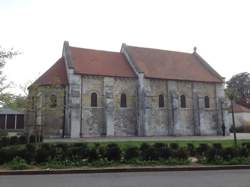
[[[119,52],[70,47],[76,73],[117,77],[135,77],[135,73]]]

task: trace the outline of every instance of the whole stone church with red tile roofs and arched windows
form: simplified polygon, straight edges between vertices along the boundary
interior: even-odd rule
[[[45,137],[228,133],[224,78],[197,52],[72,47],[29,87],[26,131]],[[225,128],[223,128],[225,127]]]

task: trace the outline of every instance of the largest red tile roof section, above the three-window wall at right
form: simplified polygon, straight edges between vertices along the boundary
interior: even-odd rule
[[[127,51],[148,78],[223,82],[222,77],[215,76],[192,53],[133,46],[127,46]]]

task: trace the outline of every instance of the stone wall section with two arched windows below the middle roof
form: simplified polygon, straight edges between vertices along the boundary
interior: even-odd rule
[[[97,107],[91,107],[91,93],[97,94]],[[127,107],[120,107],[121,94]],[[82,136],[135,136],[136,81],[129,78],[82,77]]]

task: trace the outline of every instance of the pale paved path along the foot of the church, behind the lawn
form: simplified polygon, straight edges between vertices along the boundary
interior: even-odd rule
[[[237,133],[237,139],[250,140],[250,133]],[[177,141],[177,140],[233,140],[229,136],[162,136],[162,137],[89,137],[45,139],[44,142],[124,142],[124,141]]]

